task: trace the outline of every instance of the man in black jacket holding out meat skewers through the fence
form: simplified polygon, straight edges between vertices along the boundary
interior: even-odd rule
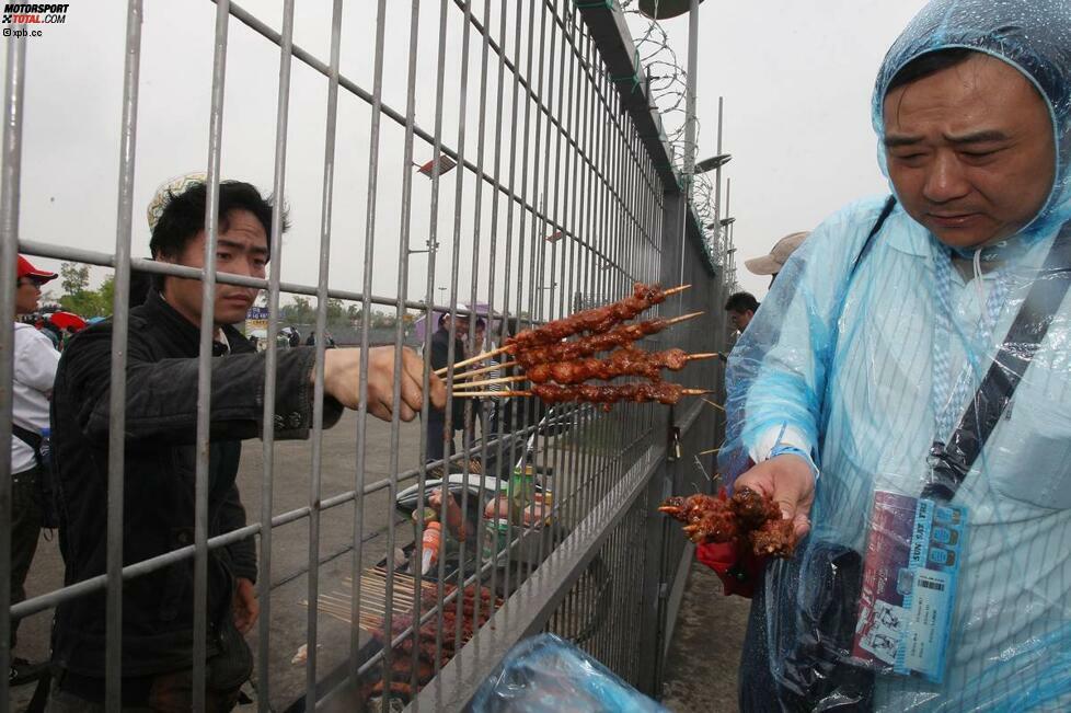
[[[206,187],[187,179],[150,206],[153,257],[201,267]],[[156,219],[154,219],[156,218]],[[272,205],[250,184],[224,182],[219,191],[217,269],[264,277]],[[244,319],[256,289],[218,285],[211,375],[208,473],[209,537],[245,526],[235,476],[241,440],[261,435],[265,355],[232,324]],[[165,277],[145,304],[130,311],[127,347],[124,480],[125,564],[194,542],[197,371],[201,314],[199,280]],[[60,549],[66,584],[105,572],[112,327],[102,323],[65,352],[51,403],[53,452],[66,504]],[[307,437],[312,423],[315,349],[278,353],[275,437]],[[389,418],[394,352],[368,353],[368,411]],[[332,349],[324,360],[324,425],[359,402],[358,349]],[[400,417],[421,407],[423,363],[403,353]],[[433,375],[430,399],[441,406],[442,383]],[[208,710],[230,710],[252,667],[240,634],[256,620],[256,550],[252,538],[208,555]],[[192,705],[193,560],[184,559],[127,579],[123,588],[124,708],[188,710]],[[54,628],[59,675],[49,710],[102,710],[105,593],[60,605]],[[226,659],[226,660],[224,660]],[[224,667],[222,664],[227,664]],[[229,670],[227,670],[229,669]],[[227,670],[229,680],[222,680]]]

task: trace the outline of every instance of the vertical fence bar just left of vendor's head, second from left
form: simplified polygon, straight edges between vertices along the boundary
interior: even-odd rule
[[[112,373],[108,404],[107,603],[105,610],[105,705],[117,710],[123,676],[123,476],[126,452],[126,364],[129,333],[130,234],[134,159],[137,148],[138,74],[141,61],[141,1],[127,5],[119,139],[118,208],[115,231],[115,300],[112,308]]]

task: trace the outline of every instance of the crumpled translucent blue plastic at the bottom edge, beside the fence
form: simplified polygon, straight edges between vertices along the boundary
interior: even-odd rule
[[[668,713],[610,669],[554,634],[520,642],[472,701],[474,713]]]

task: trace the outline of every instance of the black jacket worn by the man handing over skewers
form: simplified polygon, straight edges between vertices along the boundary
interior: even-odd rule
[[[198,334],[156,291],[130,311],[124,565],[194,541]],[[260,435],[264,403],[264,355],[235,329],[224,326],[223,334],[230,354],[212,359],[209,537],[245,525],[234,479],[241,440]],[[60,550],[68,585],[106,568],[111,355],[111,323],[82,332],[64,352],[53,391],[53,458],[65,507]],[[306,347],[278,353],[276,438],[308,436],[314,355]],[[329,400],[324,411],[330,425],[342,409]],[[124,676],[192,665],[193,564],[189,557],[124,583]],[[256,578],[252,538],[209,551],[209,655],[216,651],[220,622],[232,616],[234,577]],[[103,590],[57,608],[53,641],[57,664],[82,676],[104,675],[104,612]]]

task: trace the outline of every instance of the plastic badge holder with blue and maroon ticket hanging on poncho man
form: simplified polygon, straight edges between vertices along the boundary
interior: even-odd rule
[[[967,509],[874,494],[853,656],[886,674],[944,678]]]

